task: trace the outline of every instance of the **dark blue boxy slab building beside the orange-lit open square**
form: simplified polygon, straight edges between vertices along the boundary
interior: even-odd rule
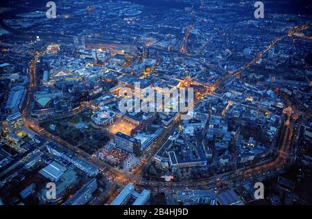
[[[137,156],[141,155],[141,140],[127,136],[124,133],[118,132],[115,135],[116,147],[125,152],[130,152]]]

